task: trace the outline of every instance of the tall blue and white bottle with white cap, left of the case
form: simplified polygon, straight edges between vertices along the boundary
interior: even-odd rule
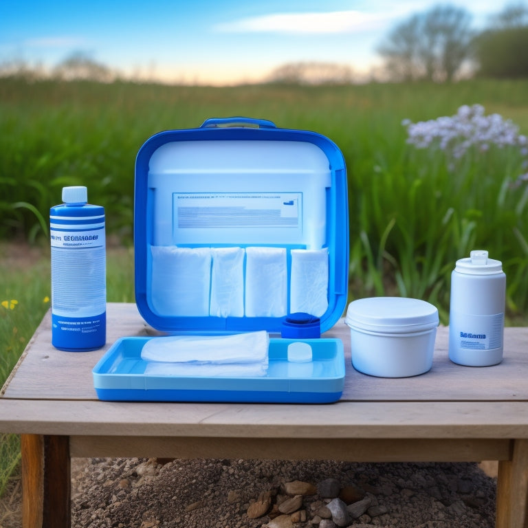
[[[100,349],[107,337],[104,208],[87,201],[86,187],[65,187],[50,209],[52,344],[71,352]]]

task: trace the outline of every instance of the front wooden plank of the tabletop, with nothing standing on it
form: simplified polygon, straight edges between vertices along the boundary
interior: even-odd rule
[[[4,400],[0,430],[85,436],[528,439],[520,401],[333,405]]]

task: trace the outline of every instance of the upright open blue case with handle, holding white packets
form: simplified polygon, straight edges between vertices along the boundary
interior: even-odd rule
[[[157,133],[135,163],[135,298],[171,333],[325,332],[347,304],[347,172],[338,146],[250,118]]]

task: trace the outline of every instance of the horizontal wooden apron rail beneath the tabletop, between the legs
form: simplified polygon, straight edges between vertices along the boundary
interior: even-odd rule
[[[506,439],[330,439],[70,437],[72,456],[178,459],[344,460],[354,462],[508,461]]]

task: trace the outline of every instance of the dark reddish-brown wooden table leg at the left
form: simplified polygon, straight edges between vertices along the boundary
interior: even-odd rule
[[[69,437],[21,434],[23,528],[70,528]]]

